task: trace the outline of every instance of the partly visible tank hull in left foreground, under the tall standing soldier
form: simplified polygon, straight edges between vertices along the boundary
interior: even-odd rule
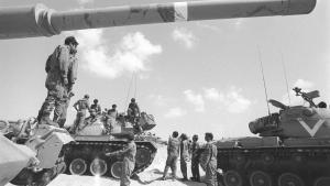
[[[0,121],[0,145],[6,150],[0,155],[0,184],[47,185],[64,172],[62,149],[73,138],[64,129],[21,121]]]

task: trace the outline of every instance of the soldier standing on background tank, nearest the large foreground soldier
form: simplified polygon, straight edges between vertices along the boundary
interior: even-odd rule
[[[86,111],[89,110],[89,96],[85,95],[82,99],[79,99],[77,102],[74,103],[74,108],[77,111],[76,121],[74,123],[73,132],[76,132],[76,129],[81,128],[84,125],[84,121],[86,118]]]

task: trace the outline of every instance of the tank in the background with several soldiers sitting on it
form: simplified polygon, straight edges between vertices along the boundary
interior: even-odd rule
[[[89,119],[87,118],[86,121],[90,121]],[[109,120],[111,123],[110,131],[106,128]],[[131,123],[131,120],[123,114],[119,117],[97,116],[91,121],[85,123],[81,130],[73,134],[75,142],[65,146],[64,160],[67,165],[67,174],[119,178],[121,157],[106,156],[105,154],[122,150],[125,146],[125,140],[122,136],[129,132],[135,134],[136,143],[133,174],[142,172],[151,165],[157,147],[143,133],[156,125],[152,114],[142,112],[136,123]]]

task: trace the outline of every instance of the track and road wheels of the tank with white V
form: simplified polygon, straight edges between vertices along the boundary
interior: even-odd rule
[[[218,168],[226,186],[329,186],[330,146],[218,146]]]

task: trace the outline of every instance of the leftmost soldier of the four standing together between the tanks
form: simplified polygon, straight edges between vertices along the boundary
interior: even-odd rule
[[[176,177],[176,164],[177,164],[177,158],[179,156],[179,145],[180,142],[178,140],[178,132],[174,131],[172,136],[168,139],[168,144],[167,144],[167,160],[166,160],[166,165],[164,169],[164,174],[162,179],[165,180],[167,176],[168,168],[170,167],[172,174],[174,178]]]

